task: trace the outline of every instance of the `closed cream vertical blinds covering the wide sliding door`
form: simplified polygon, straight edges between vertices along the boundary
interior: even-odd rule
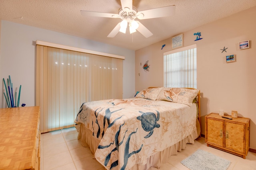
[[[74,126],[84,102],[122,98],[123,60],[37,45],[41,132]]]

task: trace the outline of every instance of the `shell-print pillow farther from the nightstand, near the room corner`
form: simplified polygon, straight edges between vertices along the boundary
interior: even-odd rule
[[[157,96],[161,90],[162,90],[162,87],[146,88],[146,89],[140,91],[135,97],[149,99],[149,100],[156,100]]]

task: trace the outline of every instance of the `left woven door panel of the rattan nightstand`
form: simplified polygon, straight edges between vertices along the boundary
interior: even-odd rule
[[[224,145],[224,121],[218,119],[207,119],[208,136],[207,142],[223,147]]]

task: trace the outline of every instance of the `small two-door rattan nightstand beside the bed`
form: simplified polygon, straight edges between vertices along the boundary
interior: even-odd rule
[[[230,117],[230,115],[225,115]],[[250,119],[238,117],[222,118],[217,113],[205,117],[205,142],[211,146],[245,159],[249,150]]]

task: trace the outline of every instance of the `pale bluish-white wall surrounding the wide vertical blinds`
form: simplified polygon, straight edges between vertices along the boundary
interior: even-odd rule
[[[36,40],[124,56],[123,98],[134,96],[135,51],[4,20],[0,29],[0,78],[7,80],[10,75],[13,88],[19,88],[22,85],[20,104],[25,103],[26,106],[36,104]],[[2,81],[0,108],[7,107],[3,90]]]

